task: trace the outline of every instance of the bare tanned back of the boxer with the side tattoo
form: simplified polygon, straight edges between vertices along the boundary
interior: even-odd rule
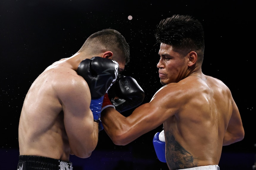
[[[183,89],[179,100],[184,102],[179,102],[182,106],[177,113],[164,122],[169,168],[218,164],[232,115],[230,90],[210,76],[189,76],[176,86]]]

